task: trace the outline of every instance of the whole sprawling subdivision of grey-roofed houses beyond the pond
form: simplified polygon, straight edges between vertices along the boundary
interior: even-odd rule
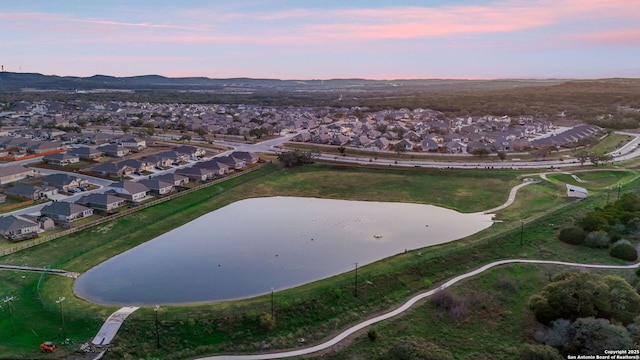
[[[168,196],[260,161],[255,153],[214,156],[197,146],[217,136],[252,141],[264,135],[291,134],[293,142],[464,155],[477,149],[518,152],[569,147],[602,133],[597,126],[560,128],[534,116],[449,118],[429,109],[370,112],[365,108],[88,101],[18,102],[4,109],[8,110],[0,112],[0,156],[5,161],[41,157],[43,165],[60,169],[83,162],[89,164],[83,167],[85,175],[113,181],[97,193],[93,190],[100,187],[79,173],[44,175],[23,165],[0,167],[0,202],[47,203],[37,216],[2,217],[0,231],[12,241]],[[187,132],[197,137],[177,135]],[[168,140],[193,140],[195,145],[183,141],[167,146]],[[64,201],[83,192],[88,193],[73,202]]]

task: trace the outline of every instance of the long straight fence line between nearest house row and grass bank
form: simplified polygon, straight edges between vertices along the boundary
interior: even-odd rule
[[[58,239],[58,238],[63,237],[63,236],[67,236],[69,234],[73,234],[73,233],[78,232],[78,231],[86,230],[86,229],[88,229],[90,227],[97,226],[97,225],[103,224],[103,223],[108,222],[108,221],[119,219],[119,218],[121,218],[123,216],[132,214],[132,213],[134,213],[136,211],[140,211],[140,210],[146,209],[146,208],[148,208],[150,206],[154,206],[154,205],[163,203],[165,201],[173,200],[173,199],[175,199],[175,198],[177,198],[179,196],[187,195],[187,194],[190,194],[190,193],[192,193],[194,191],[198,191],[198,190],[204,189],[204,188],[209,187],[209,186],[220,184],[221,182],[224,182],[224,181],[227,181],[227,180],[235,179],[235,178],[237,178],[237,177],[239,177],[241,175],[244,175],[244,174],[250,173],[250,172],[252,172],[254,170],[260,169],[263,166],[264,166],[264,164],[259,164],[259,165],[250,167],[248,169],[245,169],[242,172],[235,172],[235,173],[233,173],[233,174],[231,174],[229,176],[225,176],[223,178],[219,178],[219,179],[216,179],[214,181],[195,186],[195,187],[193,187],[191,189],[183,190],[183,191],[177,192],[175,194],[168,195],[166,197],[155,199],[155,200],[150,201],[148,203],[144,203],[144,204],[141,204],[139,206],[136,206],[136,207],[133,207],[133,208],[130,208],[130,209],[126,209],[124,211],[120,211],[120,212],[118,212],[116,214],[107,215],[107,216],[105,216],[103,218],[96,219],[96,220],[94,220],[92,222],[89,222],[89,223],[86,223],[86,224],[82,224],[82,225],[78,225],[78,226],[72,227],[70,229],[61,231],[61,232],[56,233],[56,234],[44,236],[44,237],[41,237],[41,238],[36,238],[36,239],[30,240],[30,241],[21,242],[16,246],[13,246],[13,247],[11,247],[9,249],[5,249],[2,252],[0,252],[0,257],[6,256],[6,255],[9,255],[9,254],[13,254],[15,252],[18,252],[18,251],[21,251],[21,250],[24,250],[24,249],[28,249],[28,248],[36,246],[36,245],[40,245],[42,243],[45,243],[45,242],[48,242],[48,241],[51,241],[51,240],[55,240],[55,239]]]

